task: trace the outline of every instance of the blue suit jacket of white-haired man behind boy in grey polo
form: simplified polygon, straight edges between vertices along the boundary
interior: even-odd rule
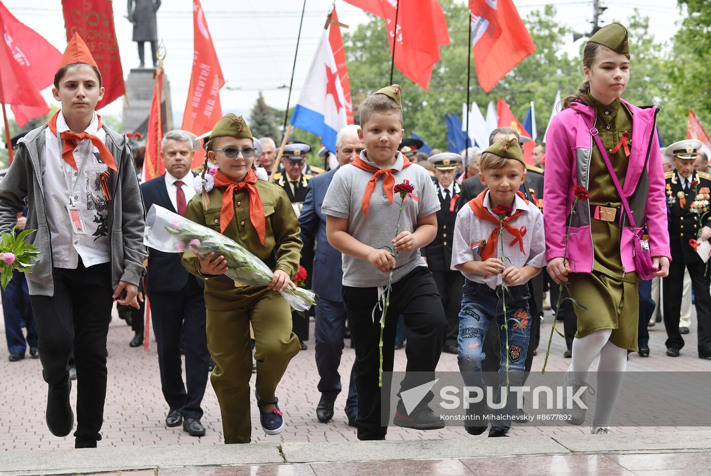
[[[301,207],[301,215],[299,215],[300,237],[304,242],[304,249],[313,249],[314,241],[316,242],[311,289],[320,298],[328,299],[328,301],[343,301],[341,295],[343,287],[341,251],[328,244],[326,215],[321,212],[326,190],[328,190],[328,185],[331,185],[331,180],[337,170],[338,168],[334,168],[332,171],[317,175],[309,180],[306,201]]]

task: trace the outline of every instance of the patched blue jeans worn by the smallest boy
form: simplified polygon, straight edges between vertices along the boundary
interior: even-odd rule
[[[504,296],[505,294],[505,296]],[[501,286],[496,290],[486,284],[475,283],[466,279],[461,297],[461,310],[459,311],[459,372],[467,386],[477,386],[485,389],[481,376],[481,362],[486,354],[483,352],[483,340],[486,331],[493,320],[499,328],[499,341],[501,342],[501,362],[499,364],[500,389],[506,392],[506,330],[503,328],[503,298],[506,298],[506,319],[508,320],[508,376],[510,386],[523,384],[526,350],[528,349],[530,313],[528,312],[528,284],[513,286],[508,291],[503,291]],[[515,319],[515,320],[513,320]],[[518,322],[516,322],[518,321]],[[511,395],[515,397],[515,394]],[[496,392],[496,397],[490,396],[494,403],[501,401],[501,391]],[[486,394],[484,395],[486,401]],[[508,415],[515,415],[515,398],[507,399],[506,409]],[[481,406],[483,411],[486,406]],[[501,411],[500,411],[501,412]],[[511,427],[510,418],[498,420],[492,425],[493,430],[508,430]]]

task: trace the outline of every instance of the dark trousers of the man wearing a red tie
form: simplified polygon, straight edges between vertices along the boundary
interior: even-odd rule
[[[151,320],[158,342],[161,389],[171,411],[183,418],[203,417],[201,403],[208,384],[208,338],[205,335],[203,288],[193,276],[182,291],[150,291]],[[185,374],[181,360],[181,333],[185,335]],[[187,387],[187,389],[186,389]]]

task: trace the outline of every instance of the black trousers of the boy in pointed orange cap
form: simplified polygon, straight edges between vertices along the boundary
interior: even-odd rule
[[[43,377],[50,386],[69,379],[74,347],[77,367],[77,439],[101,440],[106,399],[106,336],[114,305],[111,264],[53,269],[54,296],[30,296],[39,335]]]

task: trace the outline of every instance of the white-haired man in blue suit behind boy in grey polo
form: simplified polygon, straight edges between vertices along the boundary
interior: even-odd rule
[[[360,126],[346,126],[336,136],[336,159],[338,167],[351,163],[363,150],[358,139]],[[341,288],[343,269],[341,269],[341,251],[331,247],[326,238],[326,215],[321,212],[326,190],[331,185],[338,167],[323,175],[309,180],[309,192],[306,202],[301,207],[299,226],[303,249],[314,249],[313,281],[311,289],[316,293],[316,368],[319,369],[319,391],[321,399],[316,406],[316,417],[321,423],[333,418],[333,404],[341,393],[341,376],[338,365],[343,352],[343,332],[346,329],[346,308],[343,305]],[[355,394],[355,380],[351,369],[351,384],[348,388],[346,416],[348,425],[355,426],[358,413],[358,399]]]

